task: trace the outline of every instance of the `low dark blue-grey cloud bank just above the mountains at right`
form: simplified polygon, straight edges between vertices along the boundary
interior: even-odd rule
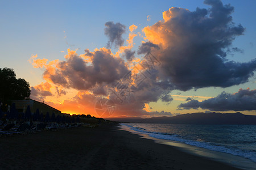
[[[242,90],[229,94],[222,92],[212,99],[198,101],[190,100],[179,105],[183,109],[209,109],[210,111],[251,111],[256,110],[256,90]]]

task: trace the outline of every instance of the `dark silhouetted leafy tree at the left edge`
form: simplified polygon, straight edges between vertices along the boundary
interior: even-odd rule
[[[0,100],[23,100],[30,97],[30,84],[24,79],[16,79],[13,69],[0,68]]]

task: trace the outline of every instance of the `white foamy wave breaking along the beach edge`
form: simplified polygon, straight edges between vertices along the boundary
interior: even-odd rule
[[[121,125],[127,126],[130,129],[133,129],[134,131],[138,131],[140,133],[147,134],[150,137],[153,137],[156,139],[165,139],[168,141],[182,142],[187,145],[206,148],[206,149],[212,150],[212,151],[225,152],[227,154],[232,154],[232,155],[241,156],[243,158],[250,159],[256,163],[256,152],[255,151],[239,150],[234,147],[221,146],[221,145],[218,145],[217,143],[204,142],[200,139],[197,141],[192,141],[192,140],[188,140],[188,139],[183,139],[179,135],[176,135],[176,134],[147,131],[146,129],[137,128],[137,127],[127,125],[127,124],[121,124]]]

